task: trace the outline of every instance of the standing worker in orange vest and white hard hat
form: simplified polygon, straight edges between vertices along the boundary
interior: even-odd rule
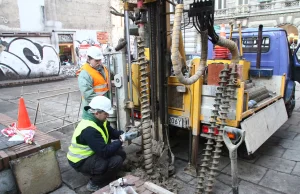
[[[109,97],[108,70],[102,64],[104,59],[100,48],[91,46],[87,50],[87,62],[79,70],[78,85],[82,95],[82,107],[87,106],[95,96]]]

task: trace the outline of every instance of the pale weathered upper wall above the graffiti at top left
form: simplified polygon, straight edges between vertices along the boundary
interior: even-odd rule
[[[97,30],[108,32],[116,46],[124,37],[124,19],[111,15],[110,6],[123,12],[119,0],[0,0],[0,30]]]

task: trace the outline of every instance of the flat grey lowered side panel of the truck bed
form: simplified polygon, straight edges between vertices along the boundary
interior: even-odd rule
[[[241,127],[246,131],[245,143],[248,153],[254,153],[287,120],[283,99],[245,119]]]

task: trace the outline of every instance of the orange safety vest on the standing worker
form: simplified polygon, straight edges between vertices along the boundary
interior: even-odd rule
[[[97,71],[96,69],[92,68],[88,63],[84,64],[81,67],[80,71],[83,69],[86,70],[93,79],[94,92],[99,96],[103,96],[109,90],[109,88],[108,88],[108,81],[109,81],[108,80],[108,70],[106,69],[106,67],[103,66],[106,79],[104,79],[104,77],[101,75],[101,73],[99,71]]]

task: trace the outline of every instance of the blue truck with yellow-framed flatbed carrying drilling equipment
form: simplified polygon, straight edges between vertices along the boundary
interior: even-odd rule
[[[226,37],[229,36],[227,31]],[[282,28],[246,28],[241,30],[241,36],[238,31],[233,32],[231,39],[240,51],[239,82],[226,120],[228,126],[246,131],[244,147],[247,150],[240,149],[240,153],[251,156],[292,115],[295,82],[300,81],[300,51],[298,47],[292,52]],[[231,63],[230,54],[227,58],[216,58],[215,47],[208,42],[207,71],[203,80],[182,92],[178,87],[185,86],[175,76],[168,81],[169,124],[191,129],[193,135],[200,133],[203,137],[209,135],[220,72],[224,64]],[[194,57],[187,66],[188,74],[193,75],[199,66],[199,57]]]

